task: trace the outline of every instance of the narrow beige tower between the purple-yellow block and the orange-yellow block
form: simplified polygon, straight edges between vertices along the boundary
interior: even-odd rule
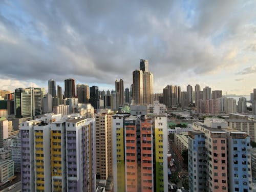
[[[95,115],[97,179],[107,180],[112,173],[112,114],[102,110]]]

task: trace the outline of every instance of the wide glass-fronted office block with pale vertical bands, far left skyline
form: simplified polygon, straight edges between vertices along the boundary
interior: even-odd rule
[[[15,116],[17,118],[34,117],[41,114],[40,88],[15,90]]]

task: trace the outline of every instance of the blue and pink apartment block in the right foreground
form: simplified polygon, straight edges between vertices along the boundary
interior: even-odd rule
[[[247,134],[228,128],[219,118],[195,122],[193,129],[188,132],[189,190],[250,191]]]

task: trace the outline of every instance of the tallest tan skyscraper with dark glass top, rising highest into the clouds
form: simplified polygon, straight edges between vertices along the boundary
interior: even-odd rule
[[[148,71],[148,61],[140,60],[140,70],[133,71],[133,99],[135,104],[150,104],[154,101],[154,77]]]

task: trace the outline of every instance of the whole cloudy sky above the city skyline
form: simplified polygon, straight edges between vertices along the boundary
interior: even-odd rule
[[[256,1],[0,1],[0,90],[64,80],[115,89],[147,59],[167,84],[256,88]],[[64,88],[62,88],[64,89]]]

